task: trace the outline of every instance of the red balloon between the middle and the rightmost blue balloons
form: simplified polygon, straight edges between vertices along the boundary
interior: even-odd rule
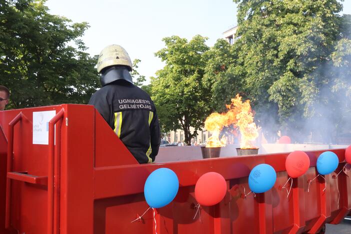
[[[287,155],[285,160],[285,168],[287,174],[296,178],[302,174],[304,174],[309,167],[309,157],[307,153],[303,151],[293,151]]]

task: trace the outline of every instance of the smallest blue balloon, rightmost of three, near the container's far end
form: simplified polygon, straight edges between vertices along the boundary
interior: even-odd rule
[[[330,174],[339,164],[339,158],[334,152],[322,152],[317,158],[317,170],[319,174]]]

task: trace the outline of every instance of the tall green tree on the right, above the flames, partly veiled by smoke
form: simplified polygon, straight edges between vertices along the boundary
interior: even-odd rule
[[[346,30],[344,18],[339,15],[341,3],[233,1],[238,7],[238,38],[231,52],[226,53],[229,55],[223,54],[230,56],[232,63],[212,75],[212,87],[225,92],[214,94],[218,99],[215,102],[223,103],[225,95],[232,95],[230,90],[241,90],[251,100],[260,125],[273,129],[271,125],[279,122],[283,133],[302,130],[301,116],[316,113],[311,106],[321,101],[320,90],[331,80],[322,67],[328,65]],[[267,124],[269,121],[271,124]]]

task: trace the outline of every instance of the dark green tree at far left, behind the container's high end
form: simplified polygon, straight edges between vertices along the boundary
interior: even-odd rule
[[[88,24],[49,14],[44,2],[0,1],[0,83],[14,108],[87,103],[99,86],[97,57],[79,39]]]

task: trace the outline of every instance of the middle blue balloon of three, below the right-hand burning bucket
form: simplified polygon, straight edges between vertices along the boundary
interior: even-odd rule
[[[271,165],[262,163],[252,168],[248,175],[248,186],[255,193],[268,191],[273,187],[276,173]]]

